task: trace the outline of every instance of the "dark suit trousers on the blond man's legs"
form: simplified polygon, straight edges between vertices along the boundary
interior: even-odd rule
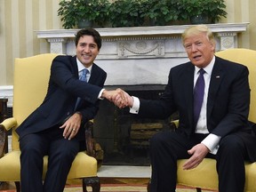
[[[150,192],[175,192],[177,160],[189,158],[188,149],[204,140],[206,135],[195,134],[188,139],[180,132],[159,132],[150,140],[152,176]],[[220,192],[243,192],[245,182],[244,143],[236,135],[220,141],[216,156]]]

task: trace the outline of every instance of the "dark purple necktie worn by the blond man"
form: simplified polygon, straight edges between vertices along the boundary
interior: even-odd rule
[[[194,123],[197,124],[204,100],[204,69],[199,70],[199,76],[194,87]]]

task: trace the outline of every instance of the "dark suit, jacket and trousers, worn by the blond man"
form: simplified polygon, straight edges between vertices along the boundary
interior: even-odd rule
[[[207,136],[195,133],[194,71],[191,62],[172,68],[161,99],[140,100],[139,116],[166,118],[175,111],[180,114],[176,132],[161,132],[150,142],[152,192],[175,190],[177,159],[189,158],[188,149]],[[217,155],[211,156],[217,160],[220,191],[243,191],[244,160],[256,161],[256,137],[247,120],[250,104],[248,74],[246,67],[218,57],[212,68],[206,113],[208,131],[221,137]]]

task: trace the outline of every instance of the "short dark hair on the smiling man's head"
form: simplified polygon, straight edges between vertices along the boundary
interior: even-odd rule
[[[76,41],[75,41],[76,46],[77,46],[78,41],[79,41],[81,36],[92,36],[93,39],[94,39],[94,42],[97,44],[98,49],[100,50],[100,48],[101,48],[101,36],[100,36],[98,31],[96,31],[93,28],[83,28],[83,29],[77,31]]]

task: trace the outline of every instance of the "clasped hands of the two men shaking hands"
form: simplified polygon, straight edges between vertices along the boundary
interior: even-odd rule
[[[104,90],[101,97],[113,102],[118,108],[132,108],[133,105],[132,96],[120,88],[112,91]]]

